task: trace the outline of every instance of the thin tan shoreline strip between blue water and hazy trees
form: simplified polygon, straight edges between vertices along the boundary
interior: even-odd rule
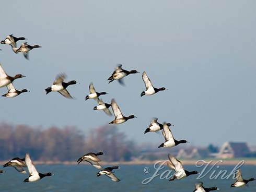
[[[9,160],[6,161],[0,161],[0,164],[5,164]],[[164,160],[155,160],[155,161],[117,161],[117,162],[107,162],[107,161],[102,161],[102,165],[153,165],[159,161],[164,161]],[[195,165],[196,162],[199,162],[200,160],[181,160],[184,165]],[[256,165],[256,159],[204,159],[201,160],[208,163],[212,161],[210,164],[218,164],[218,165],[237,165],[241,161],[245,161],[245,165]],[[63,164],[63,165],[76,165],[76,161],[33,161],[34,164],[45,164],[45,165],[54,165],[54,164]],[[87,164],[87,163],[84,163]],[[199,163],[200,164],[200,163]],[[205,163],[203,163],[205,164]]]

